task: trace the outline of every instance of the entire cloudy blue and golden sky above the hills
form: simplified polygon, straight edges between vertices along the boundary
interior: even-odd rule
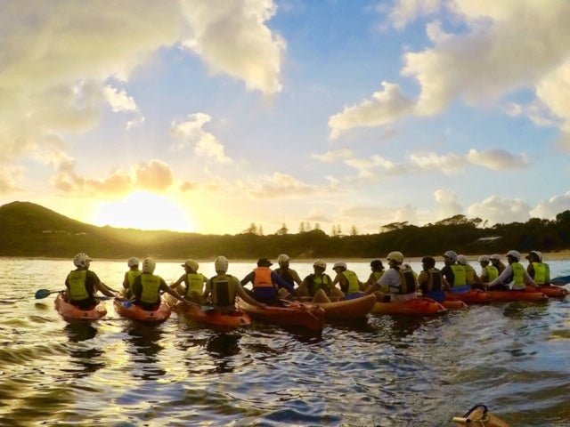
[[[567,0],[0,7],[1,205],[202,234],[570,209]]]

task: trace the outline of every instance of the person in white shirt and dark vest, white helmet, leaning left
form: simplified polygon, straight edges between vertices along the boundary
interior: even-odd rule
[[[403,254],[387,254],[390,267],[364,294],[376,294],[379,302],[405,302],[417,298],[418,281],[411,270],[403,270]]]

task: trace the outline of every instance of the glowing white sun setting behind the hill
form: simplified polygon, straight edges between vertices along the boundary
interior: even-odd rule
[[[194,231],[191,214],[171,198],[136,191],[118,202],[102,203],[94,214],[95,225],[139,229]]]

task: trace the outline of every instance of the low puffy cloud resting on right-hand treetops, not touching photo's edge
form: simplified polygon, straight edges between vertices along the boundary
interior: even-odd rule
[[[509,200],[498,196],[485,198],[483,202],[468,207],[468,217],[489,220],[490,223],[526,222],[531,207],[518,198]]]

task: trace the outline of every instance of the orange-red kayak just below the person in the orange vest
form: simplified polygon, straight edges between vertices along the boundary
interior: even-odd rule
[[[257,307],[241,298],[236,298],[236,305],[246,311],[252,318],[284,326],[302,326],[312,331],[322,331],[324,310],[314,304],[304,302],[286,302],[287,306],[266,305]]]

